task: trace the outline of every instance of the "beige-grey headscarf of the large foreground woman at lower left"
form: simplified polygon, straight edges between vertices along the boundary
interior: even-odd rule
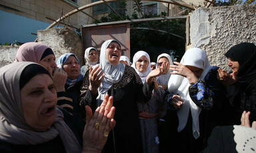
[[[37,132],[25,121],[21,107],[19,80],[21,73],[31,62],[11,63],[0,69],[0,140],[11,144],[41,144],[58,134],[67,152],[81,152],[81,146],[63,120],[63,113],[56,109],[53,126],[47,131]],[[39,65],[39,67],[41,67]]]

